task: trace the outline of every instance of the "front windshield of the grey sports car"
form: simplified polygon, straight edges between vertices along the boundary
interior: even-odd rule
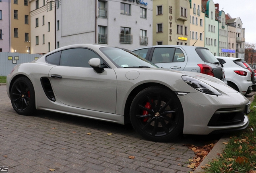
[[[130,50],[116,47],[102,47],[101,52],[107,56],[118,68],[150,67],[159,68]]]

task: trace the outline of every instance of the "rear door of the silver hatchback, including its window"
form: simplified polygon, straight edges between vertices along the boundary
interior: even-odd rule
[[[187,64],[186,54],[175,47],[155,47],[150,52],[149,61],[159,67],[183,71]]]

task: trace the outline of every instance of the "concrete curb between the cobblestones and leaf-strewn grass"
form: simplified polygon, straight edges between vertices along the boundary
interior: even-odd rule
[[[252,95],[252,97],[248,100],[250,100],[250,102],[252,102],[254,100],[256,92]],[[201,168],[201,166],[206,166],[205,164],[213,161],[213,159],[216,159],[220,156],[218,156],[218,153],[222,153],[223,150],[225,149],[225,144],[229,142],[230,138],[227,135],[223,135],[223,137],[221,137],[221,139],[219,139],[219,141],[215,144],[215,146],[213,147],[213,149],[208,153],[208,155],[206,155],[206,157],[204,158],[204,160],[198,165],[198,167],[194,170],[193,173],[203,173],[204,169]]]

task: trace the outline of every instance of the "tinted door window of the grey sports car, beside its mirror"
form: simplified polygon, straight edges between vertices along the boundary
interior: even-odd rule
[[[72,48],[67,50],[62,50],[60,57],[61,66],[74,66],[74,67],[89,67],[89,60],[91,58],[100,58],[95,52],[86,48]],[[101,59],[101,58],[100,58]],[[101,60],[103,67],[106,67]]]

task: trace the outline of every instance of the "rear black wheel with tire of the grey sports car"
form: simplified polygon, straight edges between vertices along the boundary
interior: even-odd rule
[[[13,109],[20,115],[35,113],[35,91],[27,77],[17,78],[10,92]]]

